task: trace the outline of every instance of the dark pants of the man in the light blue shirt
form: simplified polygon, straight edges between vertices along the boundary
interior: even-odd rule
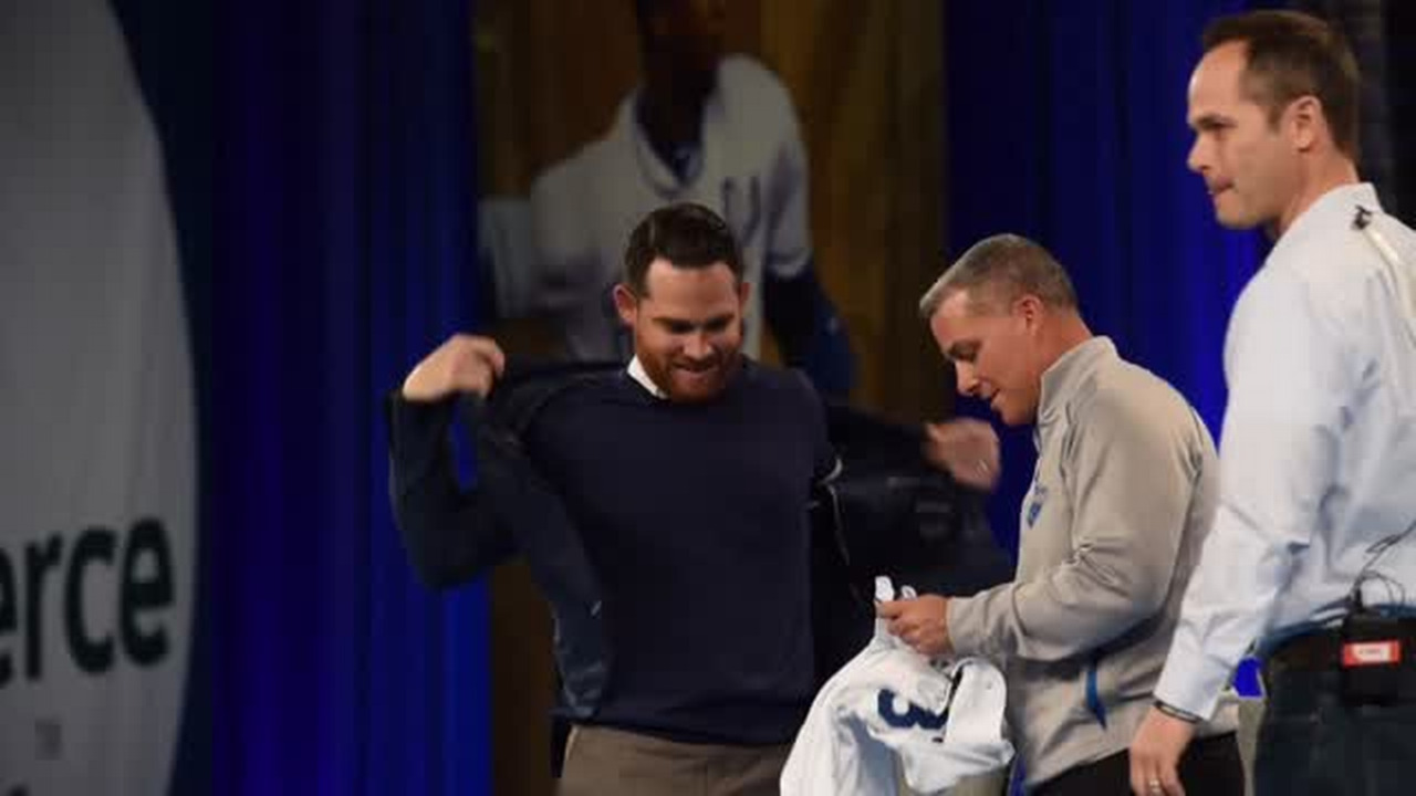
[[[1405,667],[1400,677],[1396,704],[1352,707],[1342,701],[1337,670],[1270,670],[1256,793],[1416,793],[1416,667]]]

